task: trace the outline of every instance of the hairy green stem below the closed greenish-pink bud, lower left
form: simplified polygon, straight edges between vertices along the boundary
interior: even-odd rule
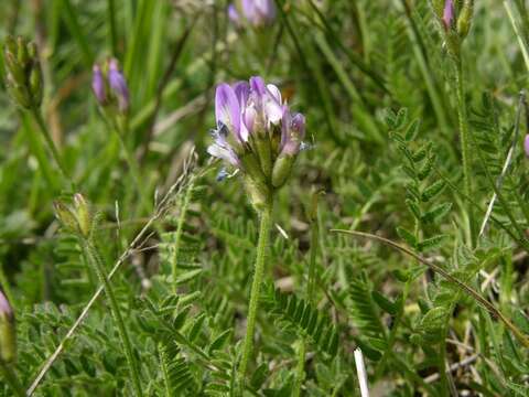
[[[107,272],[105,270],[105,266],[102,260],[97,251],[97,248],[94,246],[91,242],[88,239],[83,239],[83,249],[85,251],[86,258],[88,262],[94,267],[97,276],[99,277],[99,281],[102,283],[105,293],[107,294],[108,302],[110,304],[110,311],[114,318],[114,321],[118,325],[118,333],[121,340],[121,344],[123,346],[125,356],[127,358],[127,364],[129,365],[130,375],[132,377],[132,385],[134,388],[134,394],[137,397],[142,396],[141,391],[141,383],[140,383],[140,374],[138,369],[138,365],[132,353],[132,345],[130,343],[129,334],[127,333],[127,329],[125,328],[123,318],[121,315],[121,311],[119,310],[118,301],[116,300],[116,296],[114,294],[114,289],[108,280]]]

